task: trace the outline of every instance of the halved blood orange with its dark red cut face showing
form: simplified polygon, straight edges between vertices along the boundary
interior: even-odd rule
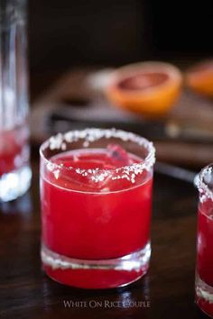
[[[181,92],[181,71],[164,62],[141,62],[118,68],[106,87],[113,105],[158,117],[166,114]]]

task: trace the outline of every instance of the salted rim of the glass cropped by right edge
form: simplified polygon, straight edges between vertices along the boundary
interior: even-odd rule
[[[204,181],[204,178],[207,174],[213,174],[213,163],[209,164],[208,166],[206,166],[204,169],[201,169],[199,175],[198,175],[198,179],[196,181],[196,185],[199,189],[199,193],[203,193],[203,196],[205,196],[205,198],[209,198],[211,200],[213,200],[213,190],[211,190],[208,187],[208,184]],[[203,199],[205,199],[203,198]]]

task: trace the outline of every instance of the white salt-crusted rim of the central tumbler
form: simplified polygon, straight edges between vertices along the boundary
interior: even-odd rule
[[[125,165],[116,169],[79,169],[73,167],[63,167],[61,164],[56,164],[51,160],[48,160],[43,151],[47,148],[51,150],[61,150],[66,151],[67,146],[66,143],[71,143],[74,141],[85,140],[83,143],[83,147],[87,148],[90,142],[98,141],[102,138],[110,139],[110,138],[118,138],[122,141],[134,141],[139,146],[143,146],[148,154],[142,162],[134,163],[130,165]],[[41,159],[47,164],[48,169],[53,171],[54,169],[65,169],[70,170],[74,169],[76,173],[82,174],[83,176],[88,175],[97,175],[97,173],[103,173],[102,176],[98,174],[97,180],[93,178],[95,181],[103,180],[110,173],[116,172],[119,173],[122,171],[122,175],[119,178],[127,178],[129,180],[134,181],[134,177],[138,174],[141,174],[144,169],[150,170],[153,167],[155,162],[155,148],[153,147],[153,142],[146,140],[144,137],[140,135],[134,134],[133,132],[125,132],[122,130],[112,129],[97,129],[97,128],[89,128],[84,130],[76,130],[69,131],[65,133],[58,133],[54,136],[51,136],[47,141],[44,141],[40,147],[40,156]],[[58,171],[60,172],[60,171]],[[117,178],[117,177],[116,177]],[[115,179],[116,179],[115,178]]]

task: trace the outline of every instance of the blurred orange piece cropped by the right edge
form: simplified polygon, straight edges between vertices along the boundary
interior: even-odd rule
[[[213,60],[201,61],[186,72],[186,85],[204,96],[213,97]]]

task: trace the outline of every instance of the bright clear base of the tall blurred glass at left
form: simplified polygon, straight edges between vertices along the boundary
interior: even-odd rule
[[[29,166],[0,177],[0,202],[8,202],[22,196],[30,187],[32,171]]]

